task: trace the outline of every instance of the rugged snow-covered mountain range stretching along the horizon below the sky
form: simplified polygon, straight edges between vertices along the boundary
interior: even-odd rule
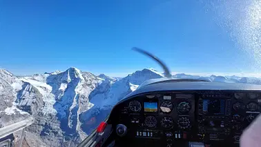
[[[0,69],[0,128],[33,117],[35,123],[26,128],[23,146],[76,146],[118,101],[144,81],[162,77],[162,73],[151,68],[123,78],[93,75],[77,68],[17,77]],[[181,73],[173,78],[261,84],[255,77]],[[19,138],[19,133],[14,137]]]

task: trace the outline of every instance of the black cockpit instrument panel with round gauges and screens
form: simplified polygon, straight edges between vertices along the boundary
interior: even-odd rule
[[[238,146],[242,130],[260,113],[260,102],[260,92],[250,90],[149,92],[121,101],[108,122],[124,124],[128,141]]]

